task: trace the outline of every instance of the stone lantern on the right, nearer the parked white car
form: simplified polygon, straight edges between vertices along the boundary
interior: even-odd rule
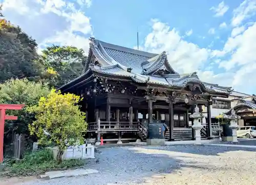
[[[237,137],[237,129],[238,129],[238,120],[241,119],[239,115],[236,114],[234,109],[231,110],[230,115],[224,115],[225,119],[230,120],[230,125],[229,128],[232,130],[232,142],[238,142],[238,137]]]

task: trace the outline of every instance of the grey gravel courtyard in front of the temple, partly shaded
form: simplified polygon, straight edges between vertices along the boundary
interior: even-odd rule
[[[175,145],[100,151],[85,167],[99,170],[99,174],[21,184],[256,184],[256,149]]]

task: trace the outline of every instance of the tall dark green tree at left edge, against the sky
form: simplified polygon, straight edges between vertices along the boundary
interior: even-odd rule
[[[37,43],[19,27],[0,19],[0,83],[11,78],[40,79]]]

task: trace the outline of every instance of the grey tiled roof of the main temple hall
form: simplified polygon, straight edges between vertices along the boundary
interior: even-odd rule
[[[137,83],[148,83],[172,87],[185,87],[188,82],[201,83],[207,91],[230,94],[231,87],[201,82],[196,73],[181,75],[170,66],[165,52],[153,54],[121,47],[91,38],[90,51],[100,66],[91,65],[93,72],[129,78]],[[88,59],[91,62],[91,59]],[[89,63],[88,63],[89,64]],[[131,72],[128,72],[131,68]],[[159,70],[170,74],[156,75]]]

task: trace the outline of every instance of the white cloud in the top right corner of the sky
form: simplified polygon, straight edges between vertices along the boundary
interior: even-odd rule
[[[256,1],[245,0],[238,8],[233,10],[231,24],[237,27],[242,24],[245,19],[250,18],[256,13]]]

